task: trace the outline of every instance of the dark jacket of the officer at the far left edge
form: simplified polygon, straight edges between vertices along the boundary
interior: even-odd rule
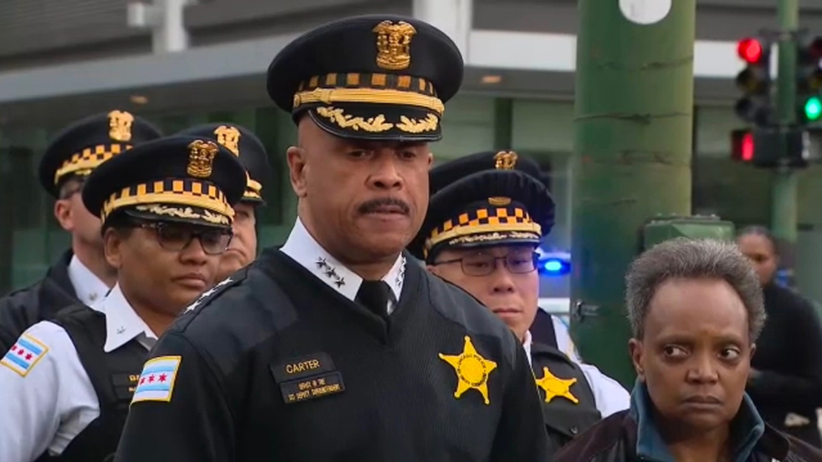
[[[68,262],[72,252],[48,268],[42,280],[25,289],[0,298],[0,351],[5,353],[29,327],[51,319],[59,310],[79,303],[72,281],[68,279]]]

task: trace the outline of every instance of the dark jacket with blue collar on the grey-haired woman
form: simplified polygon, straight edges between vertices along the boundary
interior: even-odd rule
[[[603,419],[556,454],[556,462],[674,462],[650,416],[644,385],[631,393],[630,409]],[[822,451],[770,427],[745,395],[732,423],[734,462],[817,462]]]

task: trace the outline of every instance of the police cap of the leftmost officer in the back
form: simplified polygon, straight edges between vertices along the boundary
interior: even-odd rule
[[[46,147],[39,165],[40,184],[58,197],[68,179],[85,178],[104,161],[160,136],[145,119],[118,109],[72,122]]]

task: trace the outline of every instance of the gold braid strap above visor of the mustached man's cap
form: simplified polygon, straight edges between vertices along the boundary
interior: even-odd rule
[[[293,109],[303,104],[323,103],[362,103],[394,104],[399,106],[416,106],[432,110],[439,115],[445,112],[446,106],[436,96],[421,95],[414,91],[378,89],[378,88],[315,88],[300,91],[294,95]]]

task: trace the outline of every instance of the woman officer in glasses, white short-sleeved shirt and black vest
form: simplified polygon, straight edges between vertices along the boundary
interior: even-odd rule
[[[82,199],[117,284],[94,309],[31,326],[0,359],[0,460],[110,460],[148,350],[215,284],[245,188],[237,156],[193,136],[145,142],[90,174]]]

